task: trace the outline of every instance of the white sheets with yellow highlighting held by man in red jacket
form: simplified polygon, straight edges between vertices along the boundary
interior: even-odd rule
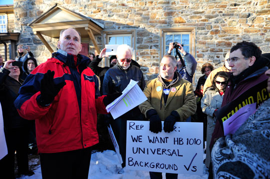
[[[106,110],[110,112],[113,119],[116,119],[146,100],[147,98],[137,82],[130,80],[127,87],[122,91],[122,95],[107,105]]]

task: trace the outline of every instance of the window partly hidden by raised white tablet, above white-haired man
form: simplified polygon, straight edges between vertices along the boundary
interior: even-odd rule
[[[104,46],[105,44],[127,44],[133,48],[132,59],[135,59],[135,30],[103,30]],[[105,62],[105,66],[109,66],[108,58]]]

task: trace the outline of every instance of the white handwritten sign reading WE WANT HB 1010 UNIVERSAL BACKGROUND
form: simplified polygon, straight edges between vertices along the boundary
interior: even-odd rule
[[[126,169],[202,175],[202,130],[202,123],[176,122],[174,131],[155,134],[148,121],[127,121]]]

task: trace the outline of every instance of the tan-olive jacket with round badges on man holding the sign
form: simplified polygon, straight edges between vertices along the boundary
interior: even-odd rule
[[[143,90],[147,100],[139,105],[142,114],[146,116],[148,110],[155,109],[159,118],[164,121],[172,111],[176,111],[179,114],[180,121],[185,121],[195,113],[196,100],[193,94],[192,84],[182,79],[178,72],[175,73],[177,74],[177,80],[168,86],[163,83],[160,75],[158,78],[147,83]],[[162,95],[163,88],[170,89],[166,105],[164,105]]]

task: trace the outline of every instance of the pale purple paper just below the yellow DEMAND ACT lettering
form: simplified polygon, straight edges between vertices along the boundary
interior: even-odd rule
[[[256,110],[256,103],[248,104],[240,108],[236,113],[223,122],[224,136],[234,134],[235,131],[252,115]]]

